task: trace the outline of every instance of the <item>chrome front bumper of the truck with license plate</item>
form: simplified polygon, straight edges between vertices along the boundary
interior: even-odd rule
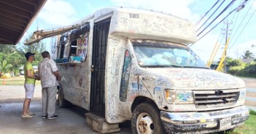
[[[160,112],[166,133],[213,133],[244,124],[249,117],[246,106],[214,112]]]

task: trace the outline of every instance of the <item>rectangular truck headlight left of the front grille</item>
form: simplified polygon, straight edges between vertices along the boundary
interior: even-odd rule
[[[175,91],[166,89],[164,96],[168,104],[194,104],[192,91]]]

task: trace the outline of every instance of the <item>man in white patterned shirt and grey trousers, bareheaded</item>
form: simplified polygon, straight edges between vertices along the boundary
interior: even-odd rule
[[[48,51],[42,52],[44,58],[39,63],[38,73],[42,85],[42,118],[55,119],[55,101],[57,93],[57,83],[61,81],[61,75],[58,73],[58,67],[53,59],[50,59]]]

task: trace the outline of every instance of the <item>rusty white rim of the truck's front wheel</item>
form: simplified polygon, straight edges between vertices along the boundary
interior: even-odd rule
[[[139,114],[136,120],[137,132],[140,134],[150,134],[154,131],[152,118],[147,113]]]

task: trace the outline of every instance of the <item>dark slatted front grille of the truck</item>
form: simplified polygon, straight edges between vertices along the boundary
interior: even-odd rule
[[[193,91],[197,108],[230,106],[236,104],[238,90]]]

